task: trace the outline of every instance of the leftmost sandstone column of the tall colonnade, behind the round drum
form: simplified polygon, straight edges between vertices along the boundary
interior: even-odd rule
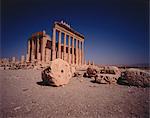
[[[53,28],[53,39],[52,39],[52,61],[56,59],[56,29]]]

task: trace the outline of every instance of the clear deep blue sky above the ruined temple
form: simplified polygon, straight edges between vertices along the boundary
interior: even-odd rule
[[[87,60],[148,63],[148,0],[2,0],[1,57],[26,54],[32,33],[64,20],[85,35]]]

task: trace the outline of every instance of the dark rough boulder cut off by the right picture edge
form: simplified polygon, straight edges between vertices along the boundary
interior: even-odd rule
[[[144,70],[128,69],[123,73],[122,78],[128,85],[150,87],[150,73]]]

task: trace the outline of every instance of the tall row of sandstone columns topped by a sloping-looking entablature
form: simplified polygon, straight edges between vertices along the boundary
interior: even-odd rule
[[[58,32],[58,47],[56,47],[56,32]],[[82,65],[84,64],[84,38],[55,24],[53,28],[52,52],[52,60],[61,58],[69,64]]]

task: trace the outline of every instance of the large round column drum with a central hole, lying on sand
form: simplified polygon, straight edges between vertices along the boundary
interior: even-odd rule
[[[50,66],[42,72],[42,80],[54,86],[68,84],[71,76],[69,64],[59,58],[52,61]]]

